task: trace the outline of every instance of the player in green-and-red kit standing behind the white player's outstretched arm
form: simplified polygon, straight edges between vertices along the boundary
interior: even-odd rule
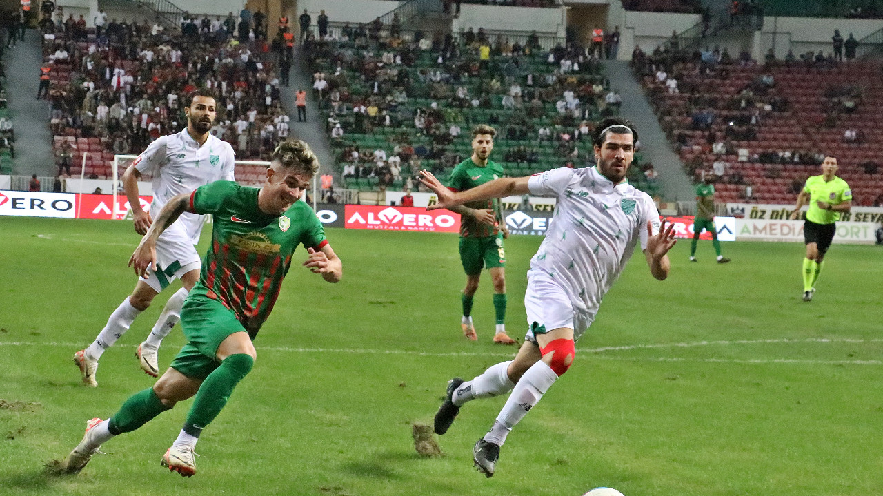
[[[466,191],[503,176],[502,165],[489,159],[494,151],[494,136],[496,130],[489,125],[472,128],[472,156],[451,171],[448,187],[452,192]],[[509,237],[509,229],[502,220],[500,201],[495,198],[470,201],[449,210],[460,214],[460,262],[466,273],[466,287],[461,297],[463,335],[472,341],[479,339],[472,324],[472,297],[479,289],[481,269],[487,268],[494,283],[494,342],[516,344],[506,334],[506,252],[502,240]]]

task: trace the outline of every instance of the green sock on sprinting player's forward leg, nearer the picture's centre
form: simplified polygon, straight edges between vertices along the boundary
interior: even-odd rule
[[[200,390],[196,392],[196,399],[193,400],[184,423],[184,432],[200,437],[202,429],[221,413],[233,394],[233,388],[251,372],[253,364],[251,355],[238,354],[224,358],[221,365],[202,381]]]

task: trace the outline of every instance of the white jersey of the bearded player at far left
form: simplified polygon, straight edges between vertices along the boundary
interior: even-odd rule
[[[150,212],[155,217],[170,198],[189,193],[215,181],[233,181],[235,154],[233,147],[211,134],[202,147],[192,139],[187,128],[176,134],[157,138],[147,145],[132,166],[141,174],[154,177],[154,200]],[[205,215],[185,212],[167,231],[176,232],[200,242]],[[163,232],[163,235],[166,233]]]

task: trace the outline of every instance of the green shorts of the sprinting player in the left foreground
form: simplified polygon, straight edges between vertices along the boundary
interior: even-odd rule
[[[215,358],[223,340],[245,327],[224,305],[208,297],[188,297],[181,310],[181,327],[187,344],[178,351],[170,367],[191,379],[205,379],[221,363]]]

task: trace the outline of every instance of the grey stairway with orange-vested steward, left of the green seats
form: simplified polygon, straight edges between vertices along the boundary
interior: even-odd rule
[[[294,105],[294,94],[299,88],[306,91],[306,123],[298,123],[298,108]],[[335,167],[334,154],[328,143],[325,132],[325,118],[319,111],[319,101],[313,95],[313,72],[310,71],[306,56],[298,49],[291,64],[290,86],[280,87],[282,106],[291,119],[289,121],[289,138],[303,139],[313,148],[319,158],[321,168],[319,175],[330,174],[335,177],[335,184],[341,184],[341,177]]]

